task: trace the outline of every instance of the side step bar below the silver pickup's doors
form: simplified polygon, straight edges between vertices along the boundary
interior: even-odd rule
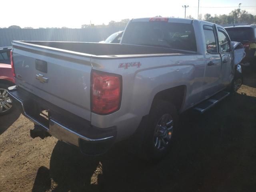
[[[230,92],[226,91],[219,92],[218,94],[212,96],[208,100],[205,100],[202,103],[198,104],[196,107],[194,107],[194,110],[197,110],[200,113],[204,113],[206,110],[210,109],[212,106],[223,100],[229,94]]]

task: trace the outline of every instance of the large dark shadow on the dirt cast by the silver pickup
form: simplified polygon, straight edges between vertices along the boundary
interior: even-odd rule
[[[255,106],[256,98],[236,93],[202,115],[187,111],[172,152],[158,164],[138,160],[127,143],[86,157],[57,142],[32,191],[253,191]]]

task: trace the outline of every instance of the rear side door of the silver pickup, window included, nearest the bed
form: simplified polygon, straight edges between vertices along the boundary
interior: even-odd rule
[[[203,97],[206,99],[220,90],[222,60],[215,25],[202,22],[201,28],[206,60]]]

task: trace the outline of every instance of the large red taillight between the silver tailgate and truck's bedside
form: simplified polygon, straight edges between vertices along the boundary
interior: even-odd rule
[[[120,107],[122,76],[92,70],[91,108],[97,114],[110,114]]]

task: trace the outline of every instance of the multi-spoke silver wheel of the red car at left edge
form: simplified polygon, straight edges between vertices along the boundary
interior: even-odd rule
[[[13,110],[12,100],[7,92],[8,87],[8,84],[0,83],[0,115],[8,114]]]

